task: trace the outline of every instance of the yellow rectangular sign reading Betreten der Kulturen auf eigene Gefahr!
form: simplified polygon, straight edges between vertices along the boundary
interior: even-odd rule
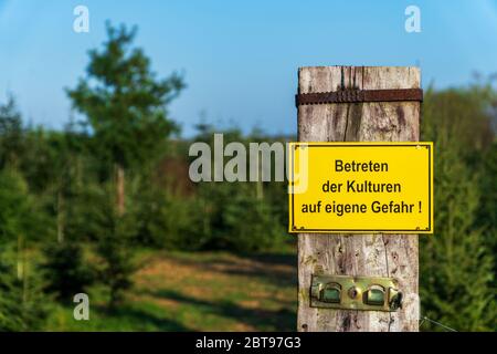
[[[433,233],[433,143],[290,143],[289,232]]]

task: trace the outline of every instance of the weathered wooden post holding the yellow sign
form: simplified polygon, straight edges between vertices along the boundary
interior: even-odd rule
[[[298,92],[419,88],[417,67],[316,66],[298,71]],[[298,107],[300,142],[416,142],[419,102],[332,103]],[[311,274],[393,277],[398,312],[309,306]],[[298,330],[419,331],[417,235],[298,235]]]

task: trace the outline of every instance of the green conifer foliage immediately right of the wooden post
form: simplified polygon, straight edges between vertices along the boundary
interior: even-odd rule
[[[491,117],[487,91],[430,92],[423,139],[435,142],[435,233],[421,242],[424,314],[459,331],[494,330],[495,259],[477,222],[483,166]],[[495,229],[494,229],[495,230]],[[496,233],[494,231],[494,238]],[[438,327],[432,326],[431,330]]]

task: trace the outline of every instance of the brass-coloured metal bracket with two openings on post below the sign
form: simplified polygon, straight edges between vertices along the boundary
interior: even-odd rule
[[[393,278],[313,275],[310,306],[396,311],[402,306],[402,293]]]

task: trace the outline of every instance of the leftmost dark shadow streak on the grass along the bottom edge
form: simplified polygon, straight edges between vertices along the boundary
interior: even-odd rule
[[[129,306],[127,304],[119,305],[116,309],[108,309],[107,306],[96,306],[96,311],[103,317],[113,319],[116,322],[130,323],[134,331],[142,331],[154,329],[155,331],[163,332],[186,332],[191,331],[183,324],[169,320],[159,317],[151,314],[149,311],[144,311]],[[119,331],[119,329],[113,329]]]

